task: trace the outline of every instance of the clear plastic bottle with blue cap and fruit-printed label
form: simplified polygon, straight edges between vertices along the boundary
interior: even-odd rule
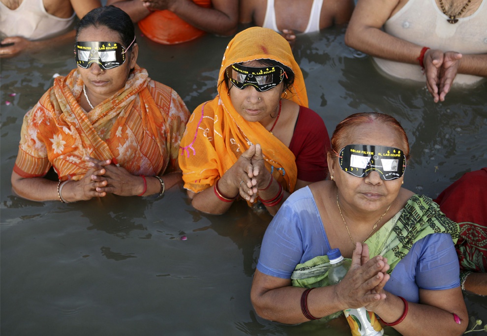
[[[338,248],[327,252],[332,267],[328,271],[328,279],[331,285],[335,285],[345,277],[350,268],[351,262],[344,260]],[[377,320],[377,316],[365,307],[348,308],[343,310],[347,322],[350,325],[353,336],[378,336],[384,335],[384,330]]]

